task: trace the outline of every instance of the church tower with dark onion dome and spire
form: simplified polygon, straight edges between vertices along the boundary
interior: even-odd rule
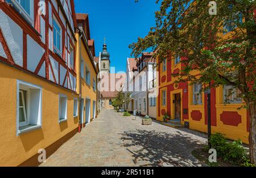
[[[110,73],[110,54],[107,51],[106,38],[104,38],[103,51],[101,52],[101,71]]]

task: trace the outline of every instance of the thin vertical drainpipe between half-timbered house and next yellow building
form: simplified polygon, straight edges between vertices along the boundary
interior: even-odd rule
[[[77,28],[79,29],[79,28]],[[80,35],[81,30],[79,29],[79,35]],[[82,57],[82,53],[81,53],[81,38],[82,38],[82,34],[79,36],[79,118],[80,118],[80,123],[79,123],[79,133],[82,130],[82,114],[81,114],[81,100],[82,100],[82,78],[81,78],[81,57]]]

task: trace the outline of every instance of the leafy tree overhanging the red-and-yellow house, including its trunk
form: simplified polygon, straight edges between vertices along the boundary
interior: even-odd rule
[[[250,115],[250,160],[255,164],[255,2],[216,2],[217,15],[210,15],[208,0],[162,0],[156,27],[129,47],[135,57],[147,49],[156,50],[160,61],[181,57],[179,81],[203,83],[202,90],[238,88]],[[194,70],[199,75],[192,75]]]

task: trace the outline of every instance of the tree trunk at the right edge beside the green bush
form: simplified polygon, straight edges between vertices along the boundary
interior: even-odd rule
[[[250,162],[255,164],[255,103],[249,105],[250,113],[250,135],[249,135],[249,147],[250,147]]]

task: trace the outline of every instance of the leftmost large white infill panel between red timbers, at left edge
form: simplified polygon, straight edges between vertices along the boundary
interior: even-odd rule
[[[0,10],[0,27],[16,65],[23,66],[23,31],[12,19]]]

